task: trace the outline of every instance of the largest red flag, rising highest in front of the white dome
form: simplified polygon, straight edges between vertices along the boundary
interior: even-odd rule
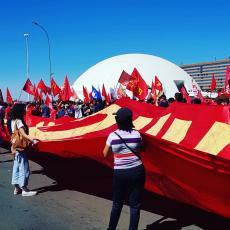
[[[133,95],[139,100],[144,100],[148,95],[148,85],[141,77],[140,73],[134,68],[127,89],[133,92]]]

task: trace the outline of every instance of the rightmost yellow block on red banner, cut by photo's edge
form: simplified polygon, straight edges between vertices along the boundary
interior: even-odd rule
[[[215,122],[195,149],[217,155],[228,144],[230,144],[230,125]]]

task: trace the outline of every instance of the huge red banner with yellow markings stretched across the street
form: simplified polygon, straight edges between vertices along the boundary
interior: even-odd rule
[[[83,119],[27,116],[27,122],[42,140],[39,151],[112,167],[102,150],[120,107],[132,109],[144,140],[146,189],[230,217],[230,106],[175,102],[161,108],[124,98]]]

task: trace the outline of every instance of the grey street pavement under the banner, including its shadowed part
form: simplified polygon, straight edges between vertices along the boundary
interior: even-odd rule
[[[12,156],[0,148],[0,230],[103,230],[112,206],[112,170],[89,159],[31,153],[29,188],[34,197],[13,195]],[[124,205],[118,230],[127,230]],[[229,230],[229,219],[145,192],[139,228]]]

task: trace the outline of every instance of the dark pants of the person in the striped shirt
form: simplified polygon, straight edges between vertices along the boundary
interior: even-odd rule
[[[138,228],[144,183],[145,170],[143,165],[131,169],[114,170],[113,207],[108,230],[116,229],[126,194],[130,206],[129,230]]]

